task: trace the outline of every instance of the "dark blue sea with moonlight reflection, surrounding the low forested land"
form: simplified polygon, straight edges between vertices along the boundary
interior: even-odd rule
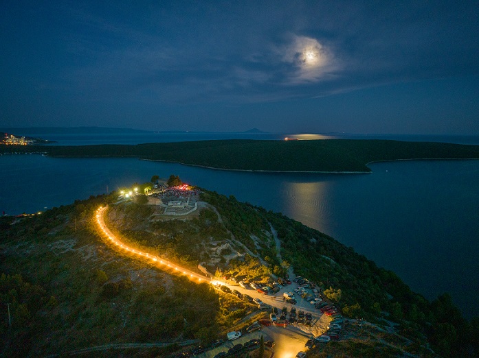
[[[479,136],[374,134],[41,134],[52,145],[139,144],[215,139],[394,139],[479,144]],[[151,176],[178,175],[238,200],[281,212],[330,235],[413,291],[445,292],[465,317],[479,315],[479,160],[372,163],[371,174],[224,171],[135,158],[0,156],[0,213],[36,213]]]

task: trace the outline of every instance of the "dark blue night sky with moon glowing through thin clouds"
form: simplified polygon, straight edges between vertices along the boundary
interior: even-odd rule
[[[479,134],[479,1],[1,1],[0,127]]]

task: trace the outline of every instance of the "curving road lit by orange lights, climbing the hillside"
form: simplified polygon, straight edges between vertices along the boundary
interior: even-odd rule
[[[159,267],[161,270],[171,270],[172,272],[176,272],[177,274],[183,274],[184,276],[190,278],[190,280],[197,282],[197,283],[210,283],[210,278],[203,276],[201,274],[197,274],[196,272],[192,272],[185,267],[181,267],[172,263],[171,261],[167,261],[162,259],[159,256],[148,254],[147,252],[143,252],[132,248],[131,246],[126,245],[120,239],[111,232],[111,230],[107,227],[104,223],[103,215],[105,211],[107,211],[108,206],[102,206],[98,208],[96,211],[96,224],[98,225],[98,229],[100,234],[108,239],[111,245],[116,246],[119,250],[124,251],[125,254],[129,254],[130,256],[136,257],[137,259],[143,259],[156,267]]]

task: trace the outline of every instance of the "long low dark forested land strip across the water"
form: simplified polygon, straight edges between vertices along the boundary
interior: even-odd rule
[[[1,147],[0,153],[131,156],[214,169],[368,173],[368,163],[408,159],[479,159],[479,145],[389,140],[221,140],[139,145]]]

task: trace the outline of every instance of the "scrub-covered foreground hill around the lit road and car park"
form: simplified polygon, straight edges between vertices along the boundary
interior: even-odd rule
[[[194,203],[188,202],[196,210],[181,216],[164,214],[162,208],[170,207],[165,199],[111,193],[34,217],[2,217],[0,297],[12,302],[13,319],[9,329],[2,313],[0,354],[45,356],[154,343],[104,350],[102,356],[164,357],[181,345],[209,344],[265,315],[227,289],[194,283],[112,248],[93,220],[106,204],[105,221],[126,244],[188,270],[201,273],[201,264],[219,280],[263,284],[292,278],[293,272],[309,278],[350,319],[338,342],[318,346],[309,357],[435,357],[433,350],[454,357],[474,347],[477,352],[478,330],[449,296],[428,302],[393,272],[317,230],[233,196],[198,190]],[[368,323],[361,329],[356,318]]]

